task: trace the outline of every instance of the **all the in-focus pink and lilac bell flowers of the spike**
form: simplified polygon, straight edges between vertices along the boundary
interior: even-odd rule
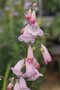
[[[22,34],[18,37],[18,40],[23,41],[26,44],[34,43],[37,37],[44,35],[43,31],[38,26],[35,10],[32,11],[29,9],[26,14],[26,19],[28,24],[21,30]],[[48,64],[48,62],[52,60],[51,56],[43,44],[40,46],[44,61]],[[26,70],[23,70],[24,68]],[[34,57],[32,46],[29,45],[27,57],[19,60],[17,64],[11,68],[12,72],[17,76],[17,79],[14,82],[15,84],[13,84],[13,82],[8,84],[7,90],[30,90],[30,88],[27,87],[25,79],[34,81],[40,76],[43,76],[43,74],[38,71],[39,68],[40,64]]]

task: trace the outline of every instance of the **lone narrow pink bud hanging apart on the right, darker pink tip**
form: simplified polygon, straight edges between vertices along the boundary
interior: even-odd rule
[[[41,44],[41,52],[44,57],[45,63],[48,64],[48,62],[51,62],[52,58],[51,58],[47,48],[42,44]]]

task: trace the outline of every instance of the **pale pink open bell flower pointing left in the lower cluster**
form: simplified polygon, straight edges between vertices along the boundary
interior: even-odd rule
[[[20,60],[17,62],[17,64],[11,68],[13,73],[16,74],[17,76],[23,75],[23,73],[21,72],[21,69],[24,66],[24,59]]]

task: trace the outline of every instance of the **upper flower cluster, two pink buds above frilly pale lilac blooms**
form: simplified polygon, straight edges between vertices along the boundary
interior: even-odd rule
[[[25,43],[34,43],[38,36],[41,37],[44,35],[43,31],[38,26],[35,10],[31,11],[31,9],[29,9],[26,14],[26,19],[28,24],[21,30],[22,35],[18,37],[18,40],[24,41]]]

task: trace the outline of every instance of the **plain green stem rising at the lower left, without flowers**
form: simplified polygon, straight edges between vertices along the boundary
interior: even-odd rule
[[[3,85],[2,85],[2,90],[6,90],[7,82],[8,82],[8,76],[9,76],[9,72],[10,72],[10,67],[11,67],[11,63],[9,63],[8,66],[7,66],[4,81],[3,81]]]

